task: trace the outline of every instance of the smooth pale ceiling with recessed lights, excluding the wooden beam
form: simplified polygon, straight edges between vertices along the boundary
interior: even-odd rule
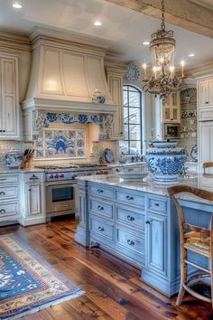
[[[148,47],[143,42],[160,26],[160,21],[114,5],[105,0],[20,0],[23,8],[15,10],[12,0],[1,0],[0,28],[29,34],[35,26],[86,35],[106,41],[108,49],[121,53],[123,61],[150,61]],[[212,5],[211,0],[192,0]],[[95,27],[93,22],[102,22]],[[182,59],[193,67],[213,59],[213,39],[166,24],[177,41],[176,64]],[[195,57],[189,58],[189,53]]]

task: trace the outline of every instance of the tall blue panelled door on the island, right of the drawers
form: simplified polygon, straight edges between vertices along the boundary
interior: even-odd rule
[[[166,229],[167,218],[160,214],[148,213],[146,266],[166,277]]]

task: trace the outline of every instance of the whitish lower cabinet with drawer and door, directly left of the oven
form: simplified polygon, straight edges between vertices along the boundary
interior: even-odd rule
[[[22,214],[20,223],[23,226],[46,221],[44,175],[43,173],[23,174],[22,176]]]

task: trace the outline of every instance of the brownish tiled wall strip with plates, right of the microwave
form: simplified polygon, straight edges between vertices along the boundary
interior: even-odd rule
[[[187,151],[187,161],[195,161],[197,141],[197,89],[181,91],[181,140]]]

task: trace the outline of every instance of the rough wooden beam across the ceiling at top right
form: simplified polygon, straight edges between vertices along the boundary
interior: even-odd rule
[[[105,0],[161,19],[161,0]],[[213,10],[190,0],[164,0],[167,23],[213,38]]]

